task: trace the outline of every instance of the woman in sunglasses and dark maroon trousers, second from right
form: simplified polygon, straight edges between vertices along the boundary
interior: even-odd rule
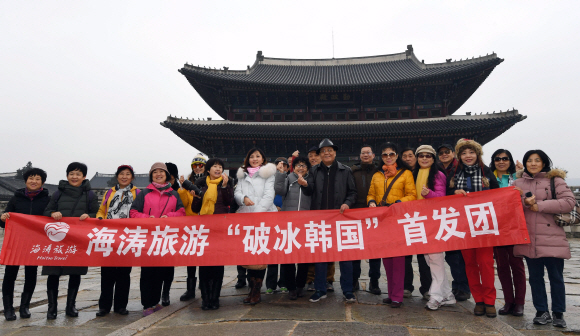
[[[514,185],[517,178],[516,163],[512,153],[507,149],[498,149],[492,154],[489,169],[495,175],[500,188]],[[521,257],[514,256],[513,245],[495,246],[493,253],[497,263],[497,277],[501,283],[505,302],[498,313],[500,315],[522,316],[524,315],[524,304],[526,303],[524,260]]]

